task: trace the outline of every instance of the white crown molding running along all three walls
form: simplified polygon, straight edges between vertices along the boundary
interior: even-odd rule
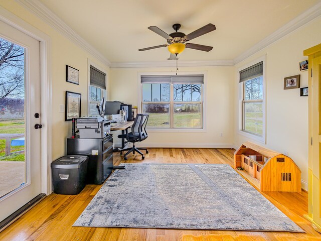
[[[92,45],[80,37],[75,31],[68,27],[60,18],[58,18],[52,11],[50,11],[39,0],[16,0],[26,9],[34,13],[36,16],[44,20],[58,32],[65,37],[79,45],[82,49],[86,50],[102,63],[110,68],[137,68],[137,67],[175,67],[175,61],[154,61],[154,62],[113,62],[110,63],[99,51]],[[321,15],[321,3],[318,3],[300,14],[287,24],[283,25],[280,29],[276,30],[265,39],[255,44],[250,49],[246,50],[234,60],[212,60],[212,61],[180,61],[180,66],[231,66],[235,65],[244,59],[250,57],[256,52],[264,49],[265,47],[273,44],[277,40],[304,26],[313,19]]]

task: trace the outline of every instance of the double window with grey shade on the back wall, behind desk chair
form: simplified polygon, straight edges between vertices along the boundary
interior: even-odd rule
[[[141,88],[149,128],[203,127],[203,75],[141,76]]]

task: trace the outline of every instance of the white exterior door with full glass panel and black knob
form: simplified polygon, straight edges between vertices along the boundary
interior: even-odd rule
[[[42,124],[40,43],[0,21],[0,221],[41,192],[36,124]]]

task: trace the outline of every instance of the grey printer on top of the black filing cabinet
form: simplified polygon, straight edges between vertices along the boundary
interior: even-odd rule
[[[79,138],[105,138],[110,134],[110,121],[102,117],[77,118],[76,127]]]

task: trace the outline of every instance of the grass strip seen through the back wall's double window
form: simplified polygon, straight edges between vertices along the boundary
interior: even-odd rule
[[[170,127],[170,115],[166,113],[149,113],[147,127]],[[175,113],[174,127],[200,128],[201,113]]]

